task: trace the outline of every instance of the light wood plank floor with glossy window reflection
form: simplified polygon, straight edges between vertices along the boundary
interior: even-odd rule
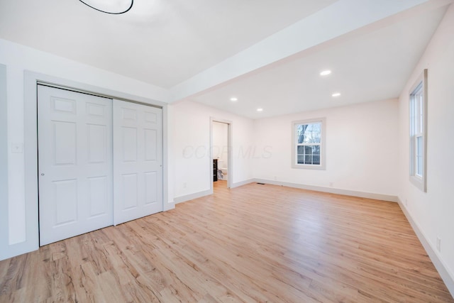
[[[454,302],[398,204],[248,184],[0,262],[0,302]]]

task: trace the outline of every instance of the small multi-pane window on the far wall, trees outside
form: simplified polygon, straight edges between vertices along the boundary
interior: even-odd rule
[[[325,119],[294,121],[292,167],[325,169]]]

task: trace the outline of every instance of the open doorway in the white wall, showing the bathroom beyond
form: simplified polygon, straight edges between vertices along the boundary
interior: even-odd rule
[[[211,119],[212,188],[232,184],[231,128],[231,121]]]

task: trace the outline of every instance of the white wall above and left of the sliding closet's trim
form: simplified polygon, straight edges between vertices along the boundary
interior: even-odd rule
[[[8,228],[0,231],[0,259],[33,250],[28,246],[31,237],[27,235],[25,202],[25,158],[24,153],[11,153],[13,144],[27,148],[24,140],[24,71],[31,70],[74,82],[82,82],[96,87],[111,89],[156,101],[167,101],[169,93],[160,87],[139,82],[135,79],[99,70],[72,60],[44,53],[33,48],[0,39],[0,64],[6,65],[7,111],[8,111]],[[1,138],[0,138],[1,139]],[[5,205],[2,205],[5,206]],[[36,231],[38,226],[35,227]],[[32,245],[34,246],[34,244]],[[34,248],[35,249],[35,248]]]

